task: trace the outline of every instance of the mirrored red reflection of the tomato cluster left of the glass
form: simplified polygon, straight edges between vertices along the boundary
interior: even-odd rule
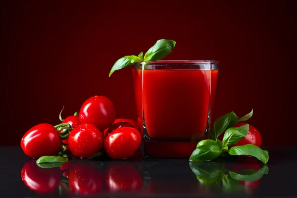
[[[71,160],[65,163],[27,162],[21,171],[24,184],[37,193],[96,195],[137,192],[143,180],[134,162]]]

